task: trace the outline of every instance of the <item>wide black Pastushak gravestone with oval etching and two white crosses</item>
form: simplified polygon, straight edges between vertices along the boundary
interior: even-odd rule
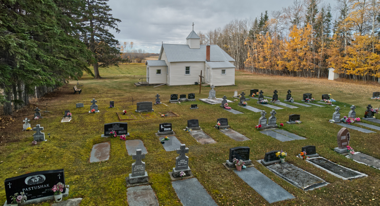
[[[8,204],[5,205],[9,205],[12,202],[11,196],[13,196],[14,193],[20,194],[20,192],[25,192],[27,201],[48,196],[51,196],[51,198],[47,198],[41,201],[54,199],[52,196],[54,195],[54,192],[51,189],[53,185],[57,184],[58,182],[65,184],[65,173],[63,169],[38,171],[16,177],[6,178],[4,185],[6,202]],[[63,189],[63,196],[68,195],[68,191],[66,190],[66,188]]]

